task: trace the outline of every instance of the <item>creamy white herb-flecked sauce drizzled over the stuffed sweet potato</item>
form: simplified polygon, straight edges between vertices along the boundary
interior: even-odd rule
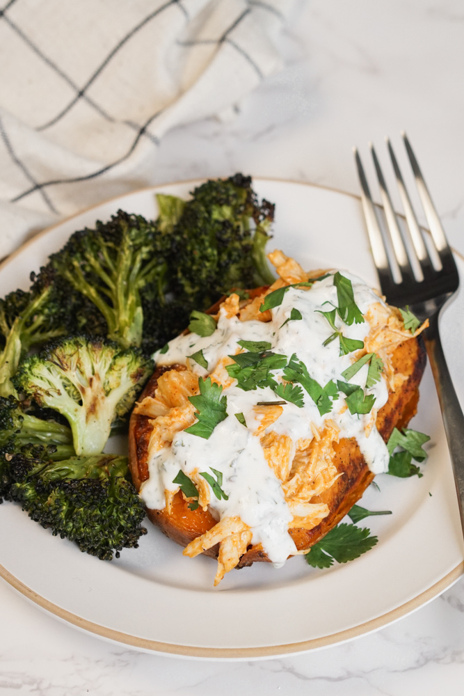
[[[369,306],[381,301],[362,280],[346,272],[343,275],[351,280],[355,303],[363,315]],[[189,361],[189,368],[199,377],[206,377],[221,358],[236,354],[241,349],[239,340],[267,341],[277,354],[287,358],[296,354],[298,360],[306,365],[310,376],[321,386],[331,379],[346,381],[342,372],[353,363],[353,353],[339,356],[338,339],[323,345],[333,329],[318,310],[328,311],[333,306],[337,306],[337,288],[333,285],[333,276],[314,283],[309,290],[290,287],[282,304],[271,310],[271,322],[241,322],[237,317],[227,318],[224,308],[221,308],[217,328],[212,335],[204,338],[193,333],[181,335],[169,342],[165,354],[159,351],[155,353],[154,359],[158,366],[173,363],[186,365],[188,356],[202,350],[208,369],[194,361]],[[292,308],[298,309],[303,319],[292,320],[282,326],[290,317]],[[365,340],[371,330],[366,319],[362,324],[346,326],[337,317],[336,326],[347,338],[358,340]],[[367,370],[368,365],[365,365],[349,381],[365,388]],[[283,370],[273,373],[277,381],[280,381],[282,373]],[[365,393],[373,394],[376,397],[374,408],[381,409],[388,397],[385,379],[381,378],[373,387],[365,389]],[[285,501],[281,482],[266,462],[259,436],[253,435],[259,425],[253,406],[257,402],[280,400],[280,397],[269,387],[244,391],[235,380],[232,386],[223,390],[223,394],[227,396],[228,417],[216,426],[208,440],[179,432],[171,447],[157,452],[148,463],[150,475],[143,484],[141,497],[147,507],[163,509],[166,505],[165,489],[177,490],[173,479],[179,469],[189,475],[194,470],[211,473],[209,467],[212,466],[223,474],[222,489],[228,500],[218,500],[211,491],[211,514],[216,519],[239,516],[252,529],[253,544],[261,543],[271,562],[281,565],[296,552],[294,541],[288,534],[292,514]],[[280,418],[262,434],[274,431],[289,435],[296,443],[299,438],[312,437],[311,423],[323,428],[324,422],[330,418],[339,427],[340,438],[356,438],[372,472],[387,470],[389,454],[376,426],[372,427],[369,436],[365,434],[371,413],[351,416],[349,409],[346,409],[344,394],[339,393],[333,401],[333,410],[321,416],[305,389],[303,398],[303,408],[285,404]],[[243,413],[247,427],[234,417],[235,413]]]

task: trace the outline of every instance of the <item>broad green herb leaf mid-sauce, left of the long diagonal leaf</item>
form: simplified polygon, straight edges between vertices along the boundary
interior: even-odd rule
[[[227,365],[229,377],[237,379],[238,386],[244,391],[271,387],[275,388],[277,382],[273,378],[271,370],[281,370],[287,364],[287,356],[278,355],[271,351],[261,353],[239,353],[229,356],[235,365]]]

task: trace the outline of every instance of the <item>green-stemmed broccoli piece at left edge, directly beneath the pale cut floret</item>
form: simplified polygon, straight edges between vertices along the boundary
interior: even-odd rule
[[[53,460],[67,459],[75,454],[69,428],[24,412],[13,396],[0,397],[0,502],[9,498],[11,458],[25,445],[42,445]]]

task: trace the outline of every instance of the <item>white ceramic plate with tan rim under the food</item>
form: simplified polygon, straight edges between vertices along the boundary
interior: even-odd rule
[[[194,182],[195,183],[195,182]],[[156,214],[154,192],[186,196],[193,182],[147,189],[99,205],[43,232],[0,269],[0,296],[27,287],[47,255],[74,230],[118,208]],[[275,237],[307,268],[349,269],[376,285],[360,202],[306,184],[256,180],[275,201]],[[458,258],[461,277],[464,262]],[[464,299],[445,313],[443,336],[458,394]],[[296,557],[282,569],[255,564],[212,583],[216,563],[191,560],[148,522],[138,550],[102,562],[33,524],[17,505],[0,507],[0,574],[40,607],[86,631],[138,649],[203,658],[250,659],[296,653],[373,631],[421,606],[463,571],[463,541],[449,455],[430,370],[415,428],[431,435],[424,477],[377,477],[362,505],[390,509],[365,521],[378,544],[358,560],[327,570]]]

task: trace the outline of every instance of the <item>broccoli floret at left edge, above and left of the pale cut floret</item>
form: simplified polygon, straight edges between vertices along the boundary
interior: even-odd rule
[[[0,355],[0,396],[16,395],[11,383],[19,361],[33,346],[67,333],[69,313],[57,292],[53,269],[32,274],[29,292],[15,290],[0,300],[0,331],[3,349]]]

